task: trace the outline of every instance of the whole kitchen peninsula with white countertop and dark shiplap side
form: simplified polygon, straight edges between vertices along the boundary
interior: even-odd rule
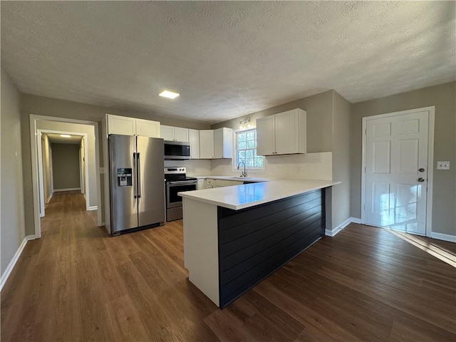
[[[325,190],[341,182],[270,180],[180,192],[189,279],[223,309],[325,232]]]

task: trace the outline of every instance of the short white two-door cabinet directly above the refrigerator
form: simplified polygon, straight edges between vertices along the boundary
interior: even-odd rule
[[[160,123],[152,120],[128,118],[106,114],[108,134],[140,135],[142,137],[160,138]]]

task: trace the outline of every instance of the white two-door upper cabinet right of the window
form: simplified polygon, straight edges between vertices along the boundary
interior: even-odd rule
[[[306,153],[306,111],[296,108],[257,119],[257,155]]]

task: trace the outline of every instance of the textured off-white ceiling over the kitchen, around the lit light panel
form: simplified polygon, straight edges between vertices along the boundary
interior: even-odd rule
[[[455,25],[455,1],[1,1],[1,64],[24,93],[216,123],[454,81]]]

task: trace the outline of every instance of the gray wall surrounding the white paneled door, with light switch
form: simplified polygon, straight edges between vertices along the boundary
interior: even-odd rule
[[[361,217],[362,118],[435,105],[432,232],[456,235],[456,83],[445,83],[352,105],[351,216]],[[450,170],[437,170],[450,160]]]

